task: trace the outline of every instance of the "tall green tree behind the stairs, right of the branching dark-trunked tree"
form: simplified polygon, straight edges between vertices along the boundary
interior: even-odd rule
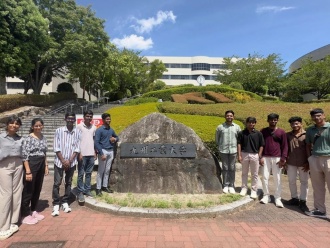
[[[109,37],[104,31],[104,21],[96,18],[89,7],[77,7],[77,17],[81,26],[76,33],[67,35],[63,51],[71,61],[67,66],[71,81],[79,81],[83,98],[87,91],[91,100],[91,92],[99,89],[103,81]]]

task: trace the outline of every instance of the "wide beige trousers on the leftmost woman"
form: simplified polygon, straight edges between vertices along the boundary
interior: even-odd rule
[[[0,231],[17,223],[23,190],[23,163],[19,157],[0,161]]]

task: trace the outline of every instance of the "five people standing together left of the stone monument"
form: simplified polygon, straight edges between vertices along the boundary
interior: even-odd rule
[[[52,216],[71,212],[69,205],[72,178],[78,165],[78,201],[84,195],[92,196],[91,174],[98,155],[96,195],[102,191],[112,193],[109,188],[111,164],[118,136],[110,127],[111,116],[102,114],[103,125],[92,124],[93,112],[84,112],[84,120],[77,126],[75,113],[65,114],[66,125],[56,129],[54,136],[54,184],[52,190]],[[30,134],[18,135],[22,125],[20,118],[10,117],[6,132],[0,134],[0,240],[7,239],[18,231],[18,223],[37,224],[45,218],[37,212],[44,176],[48,175],[47,139],[42,134],[44,122],[34,118]],[[64,196],[60,197],[60,186],[65,181]]]

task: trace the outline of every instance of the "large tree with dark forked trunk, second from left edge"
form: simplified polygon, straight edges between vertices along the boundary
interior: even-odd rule
[[[84,47],[80,42],[88,40],[90,35],[93,35],[90,33],[94,31],[89,28],[90,21],[97,18],[89,8],[77,6],[74,0],[34,0],[34,2],[42,16],[49,21],[49,42],[47,49],[41,50],[34,58],[33,70],[21,78],[26,82],[26,89],[31,87],[34,94],[40,94],[44,84],[49,84],[52,77],[64,78],[77,62],[77,58],[88,52],[85,49],[79,50]],[[73,48],[74,41],[78,48],[68,54],[69,48]],[[95,39],[95,42],[99,40]],[[90,46],[86,49],[89,48]]]

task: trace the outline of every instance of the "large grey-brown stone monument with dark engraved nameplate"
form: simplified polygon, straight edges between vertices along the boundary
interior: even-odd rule
[[[119,138],[110,177],[115,191],[222,193],[219,163],[191,128],[152,113]]]

